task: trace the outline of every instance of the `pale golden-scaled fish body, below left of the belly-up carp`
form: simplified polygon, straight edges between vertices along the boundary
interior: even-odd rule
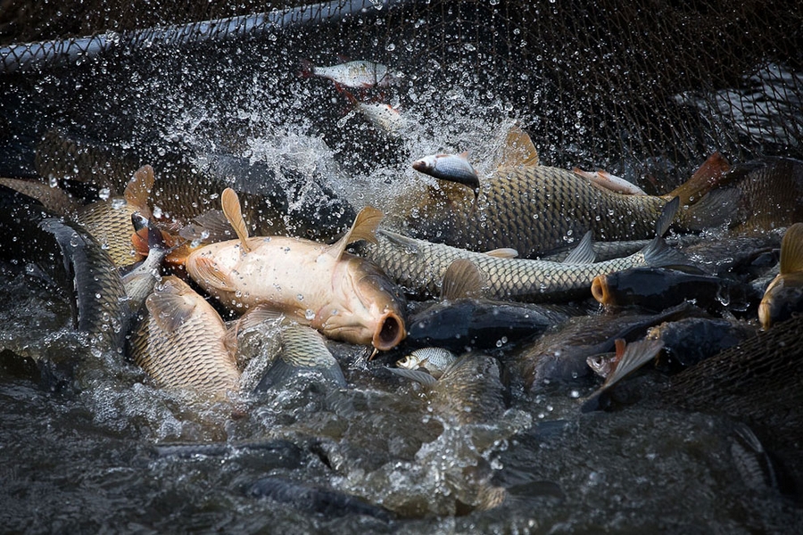
[[[153,382],[215,397],[236,391],[236,334],[177,276],[161,279],[145,300],[148,314],[128,341],[128,354]]]

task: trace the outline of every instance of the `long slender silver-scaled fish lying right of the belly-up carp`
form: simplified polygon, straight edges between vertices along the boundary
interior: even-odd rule
[[[678,200],[666,203],[663,217],[658,219],[658,228],[654,229],[658,231],[656,237],[642,251],[624,259],[592,263],[589,233],[564,262],[500,258],[495,251],[466,251],[385,229],[377,232],[377,244],[369,243],[360,251],[413,295],[436,295],[443,274],[451,263],[457,259],[469,259],[484,277],[482,296],[485,298],[526,302],[570,300],[589,296],[594,277],[601,274],[637,266],[683,264],[682,256],[669,249],[661,238],[678,203]]]

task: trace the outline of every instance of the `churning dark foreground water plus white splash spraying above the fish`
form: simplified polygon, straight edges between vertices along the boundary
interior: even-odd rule
[[[434,184],[411,161],[468,150],[482,177],[493,170],[514,119],[538,123],[486,84],[487,73],[471,69],[484,59],[471,47],[447,46],[453,57],[435,57],[414,35],[393,36],[393,48],[379,49],[405,71],[402,86],[374,96],[401,104],[407,120],[400,136],[385,136],[352,113],[331,83],[296,76],[301,57],[334,59],[330,43],[312,41],[303,49],[300,42],[306,41],[290,32],[269,48],[248,43],[258,51],[249,69],[228,61],[239,57],[240,45],[186,55],[154,50],[154,57],[121,54],[109,64],[33,77],[13,89],[22,100],[37,94],[45,103],[44,111],[29,111],[33,118],[23,117],[37,128],[87,135],[97,128],[99,138],[136,147],[144,159],[186,144],[276,169],[290,162],[305,176],[326,177],[356,207],[375,205],[388,218],[400,197]],[[410,56],[387,54],[401,50]],[[497,82],[510,79],[518,77]],[[526,97],[537,102],[543,95]],[[803,527],[793,499],[745,469],[744,424],[722,416],[638,406],[582,414],[595,385],[576,381],[506,391],[498,416],[456,424],[426,388],[384,370],[398,357],[368,362],[365,349],[339,343],[332,349],[347,389],[299,380],[282,391],[205,399],[162,391],[119,354],[87,349],[85,337],[72,331],[65,296],[19,267],[0,270],[0,300],[5,531],[741,533]],[[277,350],[269,339],[260,347]],[[34,362],[75,360],[83,364],[67,381],[58,366]],[[267,361],[261,354],[246,365],[250,384],[258,383]],[[363,498],[393,519],[337,517],[253,497],[252,485],[266,476]]]

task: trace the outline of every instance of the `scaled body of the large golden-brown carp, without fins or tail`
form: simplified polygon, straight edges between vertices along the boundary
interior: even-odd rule
[[[471,251],[512,247],[533,258],[588,230],[600,241],[650,238],[666,201],[602,191],[566,169],[522,166],[484,181],[476,206],[464,186],[432,188],[405,226],[416,238]],[[679,218],[683,225],[683,210]]]

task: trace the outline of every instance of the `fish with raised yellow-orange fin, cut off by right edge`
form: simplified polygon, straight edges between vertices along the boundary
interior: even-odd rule
[[[803,223],[790,226],[781,241],[780,273],[769,284],[758,305],[758,321],[769,329],[803,312]]]

